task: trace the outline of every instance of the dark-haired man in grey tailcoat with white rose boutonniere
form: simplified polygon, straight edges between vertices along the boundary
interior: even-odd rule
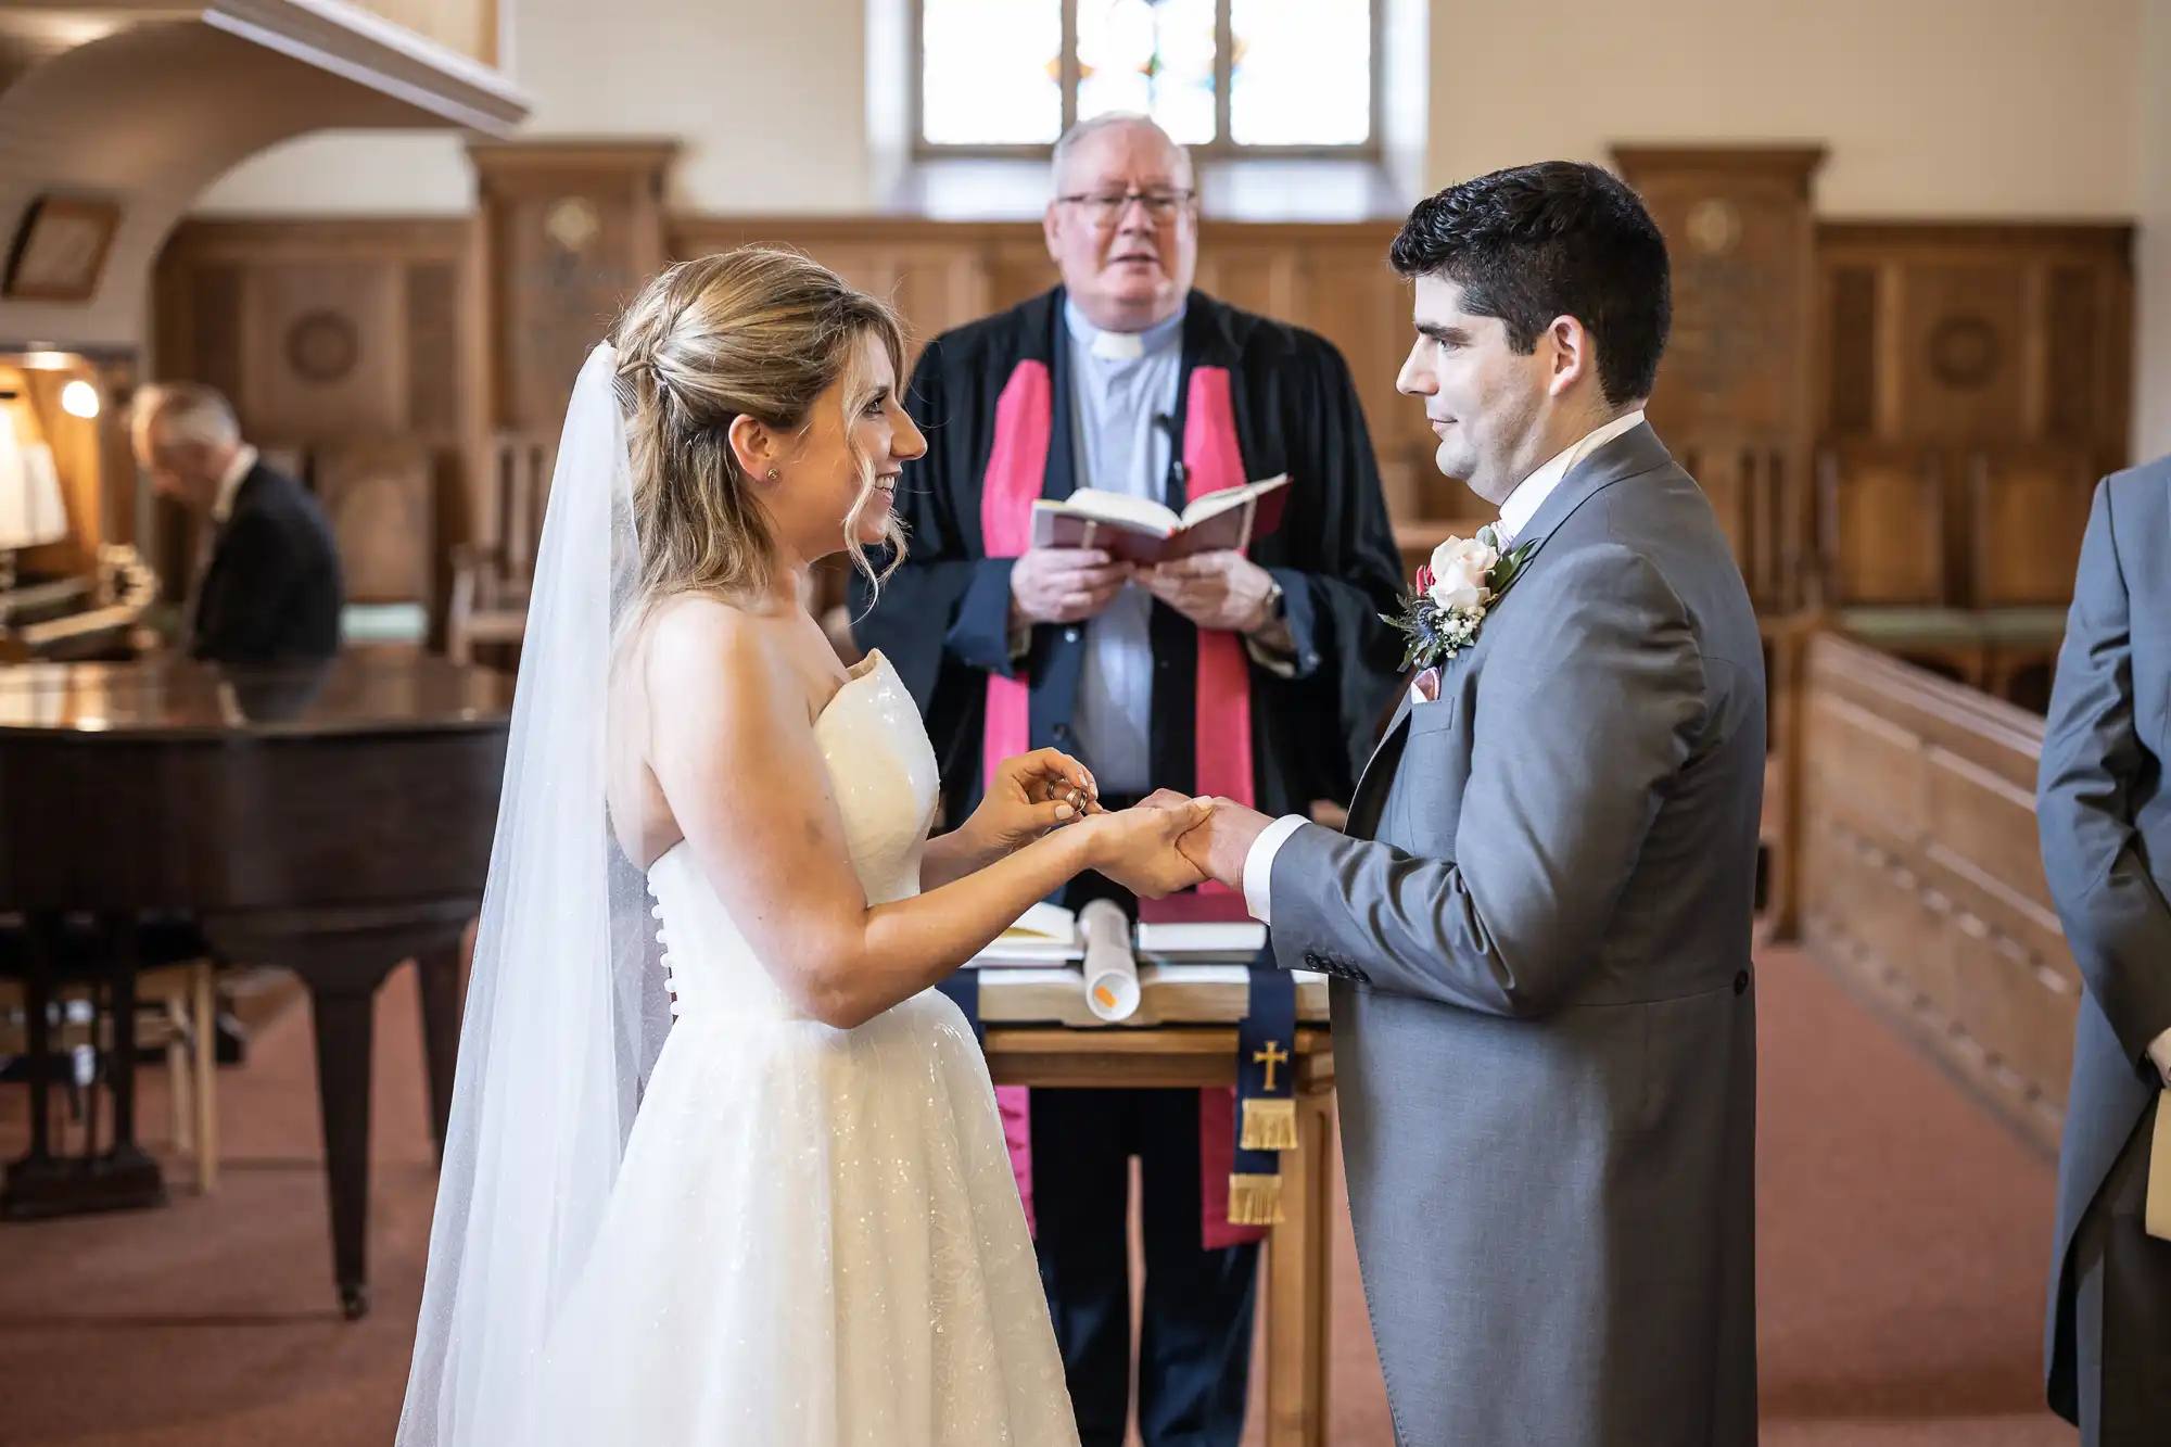
[[[1398,387],[1500,530],[1420,574],[1422,671],[1348,830],[1218,800],[1183,852],[1333,976],[1402,1447],[1752,1443],[1763,650],[1643,421],[1665,241],[1546,163],[1422,202],[1392,261]]]

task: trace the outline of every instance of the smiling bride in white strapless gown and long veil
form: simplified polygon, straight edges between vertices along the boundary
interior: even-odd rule
[[[927,836],[912,697],[799,606],[903,543],[901,361],[881,302],[740,250],[656,278],[573,387],[404,1447],[1077,1443],[931,986],[1083,869],[1196,882],[1207,806],[1107,813],[1040,752]]]

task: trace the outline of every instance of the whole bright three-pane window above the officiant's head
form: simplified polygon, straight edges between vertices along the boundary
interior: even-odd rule
[[[1207,154],[1376,154],[1374,0],[918,0],[918,150],[1144,111]]]

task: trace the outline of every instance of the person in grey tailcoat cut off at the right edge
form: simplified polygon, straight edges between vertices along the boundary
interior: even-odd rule
[[[2095,489],[2036,776],[2043,873],[2082,978],[2043,1375],[2091,1447],[2171,1443],[2171,1241],[2143,1221],[2171,1082],[2164,758],[2171,458]]]

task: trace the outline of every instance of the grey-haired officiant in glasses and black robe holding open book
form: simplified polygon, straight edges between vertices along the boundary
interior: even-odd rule
[[[927,454],[897,489],[910,550],[879,600],[855,580],[855,641],[912,689],[949,819],[990,760],[1049,745],[1083,758],[1112,806],[1157,787],[1268,813],[1346,804],[1400,660],[1379,617],[1400,563],[1348,365],[1322,337],[1192,291],[1194,172],[1153,122],[1075,126],[1053,180],[1062,285],[936,337],[914,369]],[[1092,487],[1181,513],[1277,474],[1285,508],[1248,550],[1129,567],[1029,545],[1036,498]],[[1122,897],[1086,876],[1064,904],[1092,895]],[[1086,1447],[1122,1443],[1129,1406],[1131,1156],[1140,1434],[1235,1447],[1266,1232],[1231,1221],[1231,1091],[1001,1095]]]

